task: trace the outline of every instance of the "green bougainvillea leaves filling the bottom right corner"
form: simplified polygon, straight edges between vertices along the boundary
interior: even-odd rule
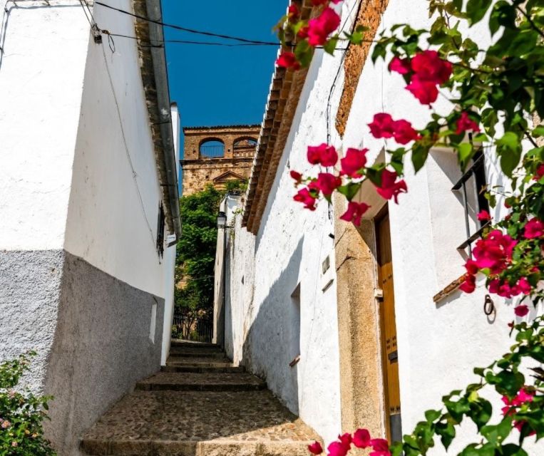
[[[404,435],[402,442],[392,445],[393,455],[401,455],[402,452],[406,456],[426,455],[435,445],[435,436],[440,437],[447,450],[463,418],[476,424],[480,437],[478,442],[467,445],[460,456],[527,455],[523,450],[525,438],[528,435],[535,435],[537,440],[544,437],[544,371],[538,366],[533,367],[537,375],[532,375],[533,381],[529,384],[530,379],[520,371],[520,367],[543,361],[544,317],[515,325],[514,331],[516,343],[508,353],[486,368],[474,369],[480,382],[445,395],[442,410],[427,410],[426,420],[417,423],[411,434]],[[491,424],[491,402],[480,395],[486,385],[491,385],[505,403],[501,418]],[[518,396],[516,401],[520,391],[523,391],[525,399],[519,400]],[[505,443],[505,440],[510,443]]]

